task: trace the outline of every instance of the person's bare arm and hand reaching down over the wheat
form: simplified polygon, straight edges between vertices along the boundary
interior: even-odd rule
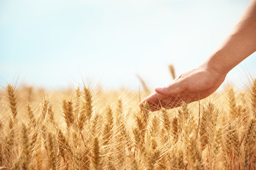
[[[225,80],[233,67],[256,51],[256,0],[252,0],[242,17],[212,55],[196,69],[181,74],[169,85],[157,87],[155,92],[139,103],[149,104],[151,111],[181,106],[206,98]]]

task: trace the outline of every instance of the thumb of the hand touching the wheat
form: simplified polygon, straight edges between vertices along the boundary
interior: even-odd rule
[[[176,95],[181,93],[184,90],[186,90],[186,85],[183,83],[183,81],[174,81],[168,86],[156,87],[155,89],[155,91],[158,94],[162,94],[166,96]]]

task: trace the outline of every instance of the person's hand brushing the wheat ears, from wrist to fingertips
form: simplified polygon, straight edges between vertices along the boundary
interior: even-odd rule
[[[225,80],[226,74],[221,74],[206,66],[192,69],[189,72],[181,74],[174,79],[171,84],[164,87],[158,87],[156,92],[144,98],[139,103],[149,104],[149,110],[158,111],[163,108],[175,108],[181,106],[181,102],[191,103],[206,98],[218,89]]]

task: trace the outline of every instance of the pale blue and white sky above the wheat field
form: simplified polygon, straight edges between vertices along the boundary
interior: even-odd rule
[[[238,22],[249,0],[1,0],[0,85],[49,89],[101,84],[151,89],[198,67]],[[256,75],[256,55],[225,84]]]

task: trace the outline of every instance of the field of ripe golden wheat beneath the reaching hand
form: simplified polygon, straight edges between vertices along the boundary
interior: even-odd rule
[[[139,108],[147,95],[8,84],[0,169],[256,169],[256,79],[171,110]]]

